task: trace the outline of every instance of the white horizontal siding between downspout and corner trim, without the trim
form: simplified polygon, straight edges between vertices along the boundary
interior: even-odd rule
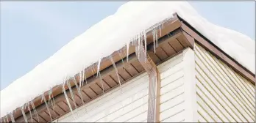
[[[182,122],[185,119],[183,53],[158,66],[161,76],[160,121]]]

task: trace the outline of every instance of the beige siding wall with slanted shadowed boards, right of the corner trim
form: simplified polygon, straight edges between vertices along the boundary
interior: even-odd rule
[[[199,122],[255,122],[255,86],[199,45],[195,53]]]

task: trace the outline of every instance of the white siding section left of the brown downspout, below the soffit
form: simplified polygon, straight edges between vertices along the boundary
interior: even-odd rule
[[[139,75],[120,88],[62,116],[58,122],[146,122],[149,77]]]

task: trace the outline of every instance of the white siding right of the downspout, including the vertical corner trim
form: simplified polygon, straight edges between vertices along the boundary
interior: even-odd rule
[[[158,66],[161,77],[160,122],[194,121],[194,52],[188,48]],[[194,100],[194,103],[193,103]]]

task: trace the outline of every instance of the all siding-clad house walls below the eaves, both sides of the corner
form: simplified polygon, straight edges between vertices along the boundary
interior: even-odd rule
[[[199,45],[157,68],[160,122],[254,122],[255,86]],[[143,73],[58,122],[146,122],[148,86]]]

